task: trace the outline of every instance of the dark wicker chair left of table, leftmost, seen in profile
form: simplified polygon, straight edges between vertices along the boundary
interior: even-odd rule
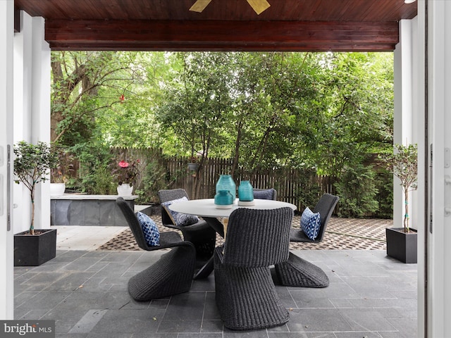
[[[183,241],[175,231],[161,232],[160,245],[148,246],[135,213],[122,197],[116,204],[127,220],[130,230],[141,249],[147,251],[172,248],[156,263],[128,281],[128,292],[136,301],[149,301],[173,294],[188,292],[191,288],[196,251],[192,243]]]

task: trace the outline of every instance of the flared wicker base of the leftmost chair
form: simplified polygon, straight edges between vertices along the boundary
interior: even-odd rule
[[[128,281],[128,292],[135,301],[149,301],[188,292],[194,275],[195,251],[192,246],[175,246]]]

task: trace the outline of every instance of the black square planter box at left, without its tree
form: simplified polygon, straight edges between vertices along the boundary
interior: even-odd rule
[[[56,229],[38,229],[41,234],[14,235],[14,265],[37,266],[56,256]]]

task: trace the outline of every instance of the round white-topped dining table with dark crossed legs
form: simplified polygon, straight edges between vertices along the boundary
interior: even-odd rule
[[[240,206],[238,205],[238,199],[235,203],[227,209],[216,208],[214,199],[191,199],[190,201],[180,201],[173,203],[169,206],[172,211],[178,213],[189,213],[191,215],[197,215],[204,218],[221,237],[224,237],[224,224],[218,220],[218,218],[228,218],[237,208],[251,208],[251,209],[276,209],[288,206],[292,210],[296,210],[294,204],[290,204],[282,201],[274,201],[272,199],[254,199],[254,206]],[[210,275],[213,271],[213,256],[207,261],[204,266],[194,275],[194,280],[203,279]]]

